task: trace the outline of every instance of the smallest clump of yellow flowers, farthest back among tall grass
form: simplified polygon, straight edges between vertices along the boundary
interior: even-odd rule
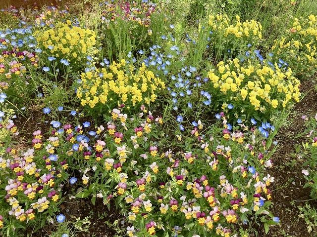
[[[262,39],[262,25],[255,20],[240,21],[240,16],[236,15],[232,20],[226,14],[217,14],[209,16],[209,25],[211,27],[211,37],[229,38],[233,40],[242,39],[248,43],[254,43]],[[229,42],[229,40],[226,40]]]

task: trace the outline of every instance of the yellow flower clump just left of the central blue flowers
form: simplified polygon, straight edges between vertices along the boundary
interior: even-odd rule
[[[144,63],[136,69],[122,59],[108,68],[82,73],[77,97],[82,106],[90,108],[118,103],[130,107],[154,102],[157,91],[164,88],[165,83],[147,70]]]

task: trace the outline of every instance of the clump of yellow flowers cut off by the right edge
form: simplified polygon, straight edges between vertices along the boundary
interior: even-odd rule
[[[313,75],[317,67],[317,15],[294,18],[287,33],[272,47],[298,75]]]

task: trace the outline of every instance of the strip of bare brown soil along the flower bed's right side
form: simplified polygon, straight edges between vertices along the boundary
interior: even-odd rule
[[[273,207],[271,210],[280,217],[280,225],[270,228],[267,235],[263,227],[257,227],[259,237],[316,237],[317,230],[311,233],[307,231],[307,225],[303,218],[299,218],[298,206],[309,203],[317,208],[317,201],[310,200],[310,190],[304,189],[305,178],[302,170],[304,159],[295,155],[296,145],[307,141],[305,132],[305,120],[303,115],[315,116],[317,113],[317,93],[314,90],[315,83],[312,80],[302,83],[302,93],[307,93],[303,100],[294,109],[294,115],[288,119],[291,125],[281,128],[276,140],[279,143],[279,151],[273,155],[273,168],[270,173],[275,177],[273,192]],[[301,137],[297,137],[299,134]],[[295,156],[294,156],[295,155]],[[305,201],[310,200],[310,201]]]

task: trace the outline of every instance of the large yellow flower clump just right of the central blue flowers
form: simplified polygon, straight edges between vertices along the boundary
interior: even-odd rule
[[[208,76],[216,89],[214,97],[222,97],[224,102],[241,102],[244,108],[249,107],[247,110],[264,112],[285,107],[293,99],[299,101],[300,81],[290,68],[282,71],[277,64],[272,68],[265,62],[242,63],[235,58],[220,61]]]

